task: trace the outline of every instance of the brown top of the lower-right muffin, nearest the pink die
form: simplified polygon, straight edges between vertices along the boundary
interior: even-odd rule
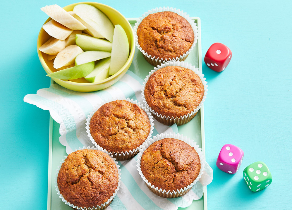
[[[199,175],[200,157],[194,147],[174,138],[152,143],[141,158],[141,171],[158,189],[180,190]]]

